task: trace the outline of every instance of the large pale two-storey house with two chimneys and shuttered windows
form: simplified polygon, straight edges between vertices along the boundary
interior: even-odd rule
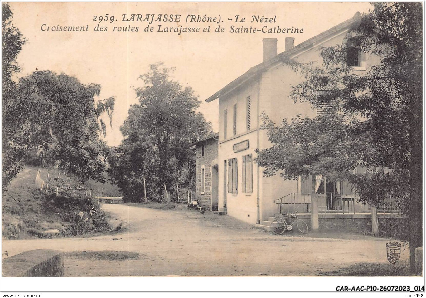
[[[284,118],[291,120],[296,115],[315,117],[324,112],[314,109],[310,103],[294,103],[290,99],[292,86],[302,82],[303,77],[283,62],[291,59],[322,63],[320,47],[350,42],[346,33],[358,16],[355,14],[350,20],[297,46],[294,46],[293,37],[287,37],[285,52],[280,54],[276,39],[263,39],[263,62],[206,99],[207,102],[219,100],[219,210],[259,224],[279,211],[284,213],[284,207],[285,211],[309,213],[310,193],[318,192],[318,205],[323,212],[368,212],[369,206],[357,203],[344,182],[329,183],[322,176],[299,177],[298,181],[283,180],[280,175],[264,177],[263,169],[255,162],[256,149],[271,146],[266,131],[260,129],[262,112],[274,123]],[[368,57],[357,48],[348,55],[351,60],[348,65],[354,72],[363,72],[368,65],[378,63],[377,58]],[[334,197],[328,193],[334,193]],[[277,202],[282,204],[277,205]]]

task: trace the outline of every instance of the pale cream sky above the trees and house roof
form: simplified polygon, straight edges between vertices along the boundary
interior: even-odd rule
[[[127,117],[130,105],[138,103],[134,88],[143,87],[138,79],[152,63],[163,62],[175,67],[173,79],[190,86],[199,96],[199,111],[218,130],[218,101],[204,100],[250,67],[262,62],[262,38],[277,38],[278,53],[284,51],[285,37],[294,37],[294,45],[348,20],[371,6],[366,2],[14,2],[10,3],[13,24],[27,42],[17,57],[21,66],[18,77],[38,70],[51,70],[77,77],[82,83],[101,84],[99,99],[116,97],[112,127],[105,141],[117,146],[122,139],[119,127]],[[101,21],[99,16],[115,20]],[[123,14],[179,14],[171,22],[153,22],[153,32],[144,32],[148,22],[123,21]],[[221,18],[216,22],[186,23],[187,15]],[[245,22],[236,23],[245,17]],[[275,23],[250,23],[253,15],[275,17]],[[94,18],[96,16],[96,21]],[[136,18],[135,18],[136,19]],[[232,19],[232,20],[228,20]],[[47,26],[84,26],[87,32],[42,31]],[[105,32],[95,27],[107,26]],[[199,27],[200,32],[157,32],[164,27]],[[225,32],[216,33],[218,26]],[[138,27],[138,32],[112,32],[113,27]],[[210,26],[210,32],[202,32]],[[259,28],[303,28],[298,34],[237,33],[230,26]],[[135,29],[134,29],[135,30]]]

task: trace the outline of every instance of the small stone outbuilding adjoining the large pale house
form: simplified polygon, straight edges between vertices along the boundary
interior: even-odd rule
[[[199,206],[218,210],[218,136],[215,133],[190,146],[196,146],[196,201]]]

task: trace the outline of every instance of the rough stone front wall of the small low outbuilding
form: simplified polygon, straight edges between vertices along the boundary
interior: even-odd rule
[[[204,156],[202,156],[202,145],[204,144]],[[210,210],[211,206],[211,166],[212,161],[217,159],[217,141],[208,139],[202,143],[197,144],[197,195],[196,201],[198,204]],[[204,165],[204,194],[201,193],[201,167]]]

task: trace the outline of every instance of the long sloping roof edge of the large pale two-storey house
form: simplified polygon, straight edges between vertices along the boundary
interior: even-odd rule
[[[293,48],[284,51],[282,53],[277,54],[276,56],[272,57],[271,59],[262,62],[256,66],[253,66],[250,68],[245,74],[242,74],[229,84],[227,84],[225,87],[220,89],[218,92],[210,96],[206,99],[206,102],[209,103],[210,101],[215,100],[216,98],[219,98],[221,94],[225,94],[229,90],[235,88],[236,86],[240,85],[241,83],[245,82],[246,80],[249,80],[250,78],[256,76],[260,72],[264,71],[265,69],[268,69],[268,67],[272,66],[274,63],[281,61],[284,57],[291,56],[292,54],[296,54],[297,52],[301,52],[302,50],[310,49],[315,44],[320,41],[324,40],[327,37],[330,37],[334,34],[337,34],[338,32],[341,32],[345,29],[347,29],[354,21],[360,19],[361,14],[357,12],[354,14],[353,17],[351,17],[349,20],[344,21],[343,23],[340,23],[333,28],[328,29],[327,31],[324,31],[314,37],[309,38],[308,40],[305,40],[302,43],[299,43],[297,46],[294,46]]]

